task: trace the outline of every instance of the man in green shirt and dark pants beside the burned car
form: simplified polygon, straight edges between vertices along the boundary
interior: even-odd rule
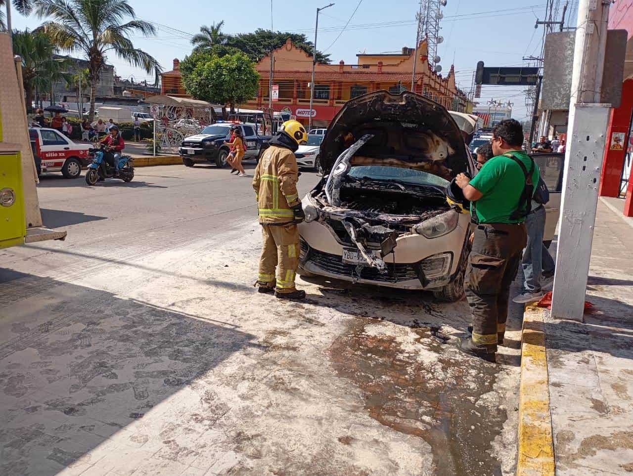
[[[456,177],[471,201],[470,214],[476,223],[466,272],[472,337],[460,339],[458,348],[487,361],[495,361],[497,345],[503,344],[510,284],[527,241],[523,222],[539,182],[539,168],[522,151],[522,144],[521,124],[514,119],[502,121],[492,129],[494,157],[474,178],[469,180],[463,173]],[[530,172],[534,187],[526,184]]]

